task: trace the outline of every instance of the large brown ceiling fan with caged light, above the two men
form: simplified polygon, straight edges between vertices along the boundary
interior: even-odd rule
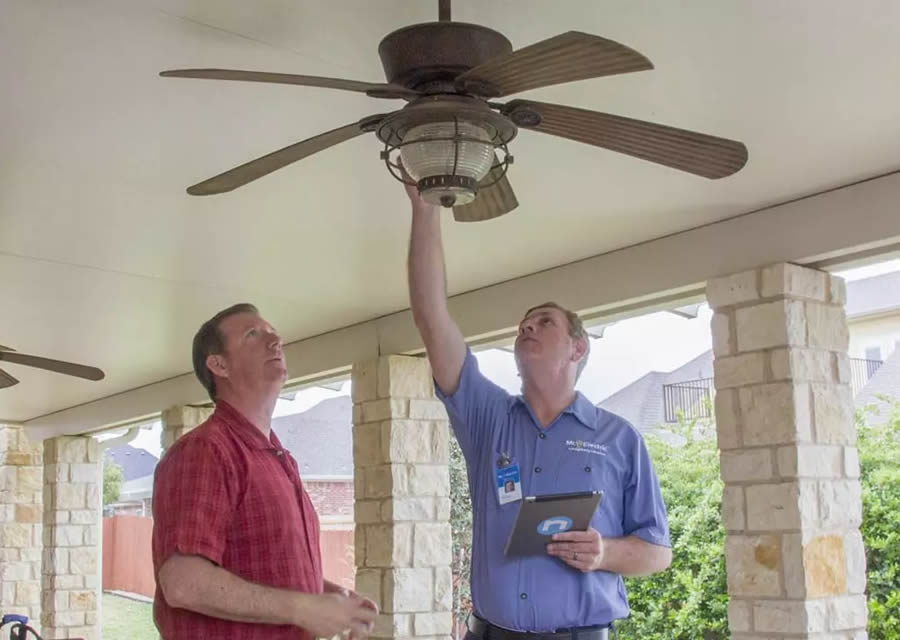
[[[487,220],[518,205],[507,170],[518,129],[569,138],[716,179],[747,162],[740,142],[576,107],[493,99],[564,82],[652,69],[646,57],[618,42],[569,31],[513,50],[480,25],[452,22],[450,0],[438,0],[438,22],[394,31],[378,54],[387,83],[228,69],[163,71],[164,77],[243,80],[357,91],[407,104],[251,160],[187,191],[231,191],[363,133],[384,143],[391,174],[415,184],[433,204],[453,207],[461,222]]]

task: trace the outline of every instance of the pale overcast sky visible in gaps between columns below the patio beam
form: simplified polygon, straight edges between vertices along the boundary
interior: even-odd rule
[[[848,281],[900,271],[900,259],[840,271]],[[712,311],[701,305],[696,318],[684,318],[669,312],[637,316],[610,325],[603,337],[591,340],[588,364],[577,389],[591,402],[606,399],[651,371],[671,371],[712,348],[709,322]],[[519,392],[519,378],[512,353],[487,349],[476,353],[482,372],[510,393]],[[279,400],[275,417],[300,413],[322,400],[350,394],[350,381],[340,391],[312,387],[299,391],[293,401]],[[132,446],[158,456],[159,423],[142,429]]]

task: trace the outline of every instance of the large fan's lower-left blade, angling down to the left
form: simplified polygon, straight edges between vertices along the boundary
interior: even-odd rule
[[[329,147],[333,147],[341,142],[346,142],[356,136],[362,135],[371,130],[373,122],[383,116],[372,116],[364,118],[359,122],[348,124],[325,133],[320,133],[312,138],[307,138],[301,142],[294,143],[278,151],[273,151],[261,158],[256,158],[239,167],[229,169],[224,173],[199,182],[188,187],[188,193],[192,196],[208,196],[216,193],[225,193],[232,191],[238,187],[242,187],[248,182],[253,182],[258,178],[277,171],[287,165],[302,160],[314,153],[323,151]],[[365,126],[364,126],[365,123]]]

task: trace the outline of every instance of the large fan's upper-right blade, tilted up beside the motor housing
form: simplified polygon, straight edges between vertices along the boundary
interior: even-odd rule
[[[487,85],[497,90],[496,96],[508,96],[563,82],[652,68],[652,62],[625,45],[589,33],[567,31],[470,69],[457,77],[456,83],[463,89],[471,85],[476,93],[480,86]]]

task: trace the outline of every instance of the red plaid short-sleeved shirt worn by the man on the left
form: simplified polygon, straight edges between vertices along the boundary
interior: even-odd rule
[[[267,440],[222,401],[156,468],[156,626],[164,640],[311,640],[297,627],[230,622],[170,607],[158,578],[176,552],[203,556],[257,584],[307,593],[323,589],[319,519],[297,463],[274,432]]]

